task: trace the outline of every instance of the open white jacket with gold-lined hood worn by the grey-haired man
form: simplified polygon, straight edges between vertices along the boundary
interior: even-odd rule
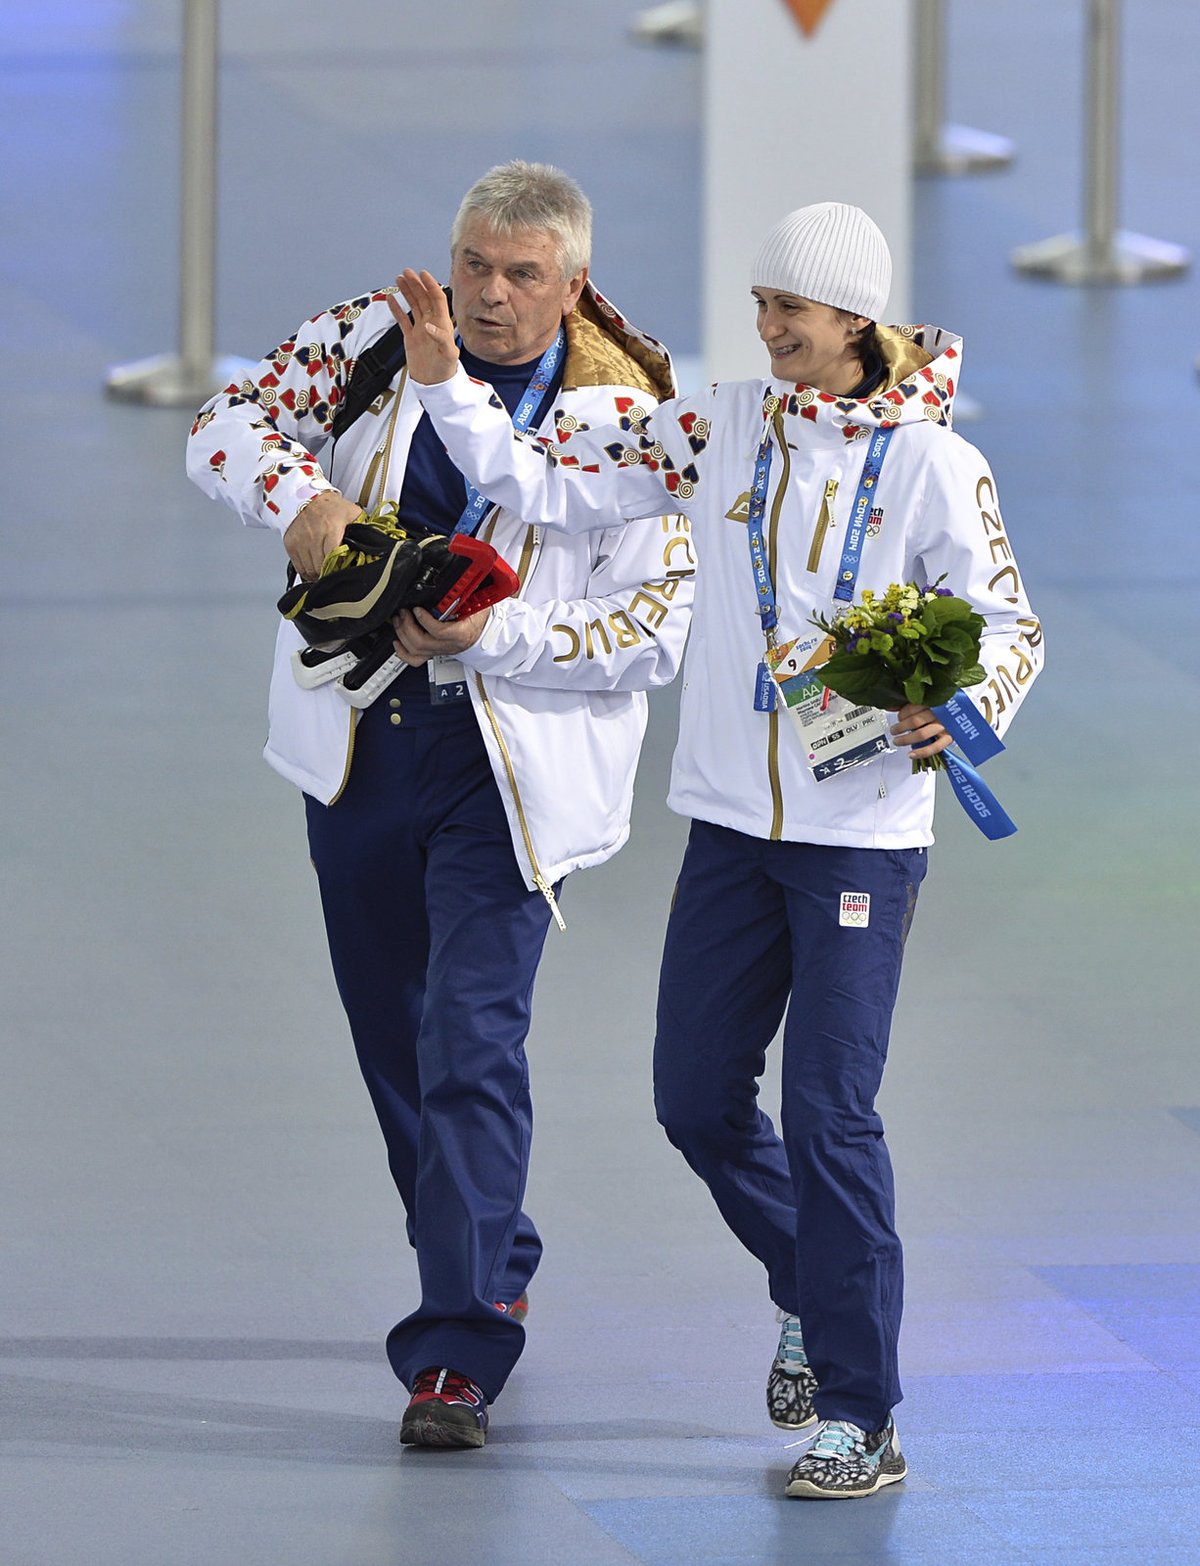
[[[201,409],[188,473],[249,526],[285,532],[305,500],[331,484],[368,507],[399,498],[421,418],[406,371],[337,440],[326,468],[316,462],[354,360],[393,324],[389,293],[315,316],[248,381]],[[551,434],[613,420],[634,401],[653,406],[672,390],[664,351],[591,287],[566,326]],[[605,521],[623,518],[614,511]],[[628,836],[644,692],[667,684],[683,656],[696,567],[689,523],[656,515],[567,537],[498,509],[479,537],[522,586],[493,606],[483,637],[461,659],[472,672],[470,698],[517,863],[526,885],[550,896],[553,882],[609,858]],[[332,803],[352,763],[354,714],[334,686],[296,684],[291,653],[302,645],[280,619],[265,755],[285,778]]]

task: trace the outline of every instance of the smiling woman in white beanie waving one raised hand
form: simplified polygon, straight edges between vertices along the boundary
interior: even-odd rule
[[[907,1472],[891,1416],[901,1243],[874,1102],[934,841],[934,774],[909,755],[938,755],[949,733],[907,703],[888,747],[880,714],[830,703],[819,680],[786,681],[785,695],[815,691],[794,720],[775,681],[819,673],[816,617],[855,589],[910,581],[945,579],[984,617],[981,731],[1007,731],[1042,666],[995,481],[949,428],[962,341],[879,326],[890,280],[887,243],[857,207],[788,213],[747,279],[769,379],[537,445],[501,429],[486,388],[457,373],[434,279],[401,279],[421,401],[486,495],[575,532],[670,498],[697,529],[703,590],[669,800],[692,827],[663,954],[655,1101],[766,1270],[783,1322],[768,1411],[818,1425],[786,1485],[811,1499],[871,1496]],[[782,1137],[757,1102],[780,1024]]]

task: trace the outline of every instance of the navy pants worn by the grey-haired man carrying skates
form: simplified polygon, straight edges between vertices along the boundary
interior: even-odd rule
[[[421,1301],[389,1359],[409,1387],[450,1366],[490,1402],[525,1345],[497,1301],[542,1251],[522,1212],[525,1037],[550,908],[517,869],[470,703],[432,705],[415,670],[362,714],[342,797],[305,805],[334,976],[417,1248]]]

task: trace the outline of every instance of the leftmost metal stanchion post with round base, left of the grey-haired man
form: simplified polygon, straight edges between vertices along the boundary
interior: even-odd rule
[[[108,395],[127,402],[196,407],[249,365],[213,354],[218,16],[219,0],[185,0],[179,352],[111,368]]]

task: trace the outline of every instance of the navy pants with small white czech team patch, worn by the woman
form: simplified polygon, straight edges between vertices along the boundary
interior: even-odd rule
[[[692,822],[667,924],[655,1104],[799,1315],[821,1419],[901,1400],[902,1256],[874,1101],[924,849],[768,843]],[[868,894],[843,900],[843,894]],[[786,1012],[782,1138],[758,1107]]]

